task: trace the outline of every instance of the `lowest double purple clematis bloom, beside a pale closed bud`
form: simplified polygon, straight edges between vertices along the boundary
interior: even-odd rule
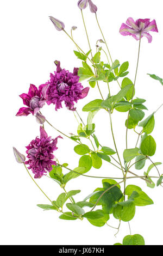
[[[32,169],[35,179],[46,175],[47,171],[51,172],[53,169],[52,165],[56,165],[56,162],[52,159],[54,159],[53,151],[58,149],[58,138],[62,137],[58,136],[55,139],[48,137],[46,131],[40,126],[40,138],[36,137],[26,147],[27,158],[29,160],[25,164],[29,164],[28,169]]]

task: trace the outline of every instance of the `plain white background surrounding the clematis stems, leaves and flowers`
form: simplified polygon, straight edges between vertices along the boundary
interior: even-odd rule
[[[134,19],[156,19],[159,33],[152,32],[153,41],[148,44],[146,38],[142,39],[139,77],[136,81],[136,96],[147,99],[146,106],[151,114],[163,101],[163,88],[157,81],[152,80],[147,73],[162,74],[162,1],[137,0],[94,0],[98,6],[98,19],[103,28],[106,40],[113,59],[121,63],[129,61],[128,77],[134,80],[136,58],[139,42],[129,36],[118,33],[122,22],[128,17]],[[89,50],[87,45],[82,17],[77,7],[77,0],[15,0],[1,1],[1,230],[0,243],[2,245],[112,245],[122,242],[124,236],[129,234],[127,223],[122,223],[120,233],[114,237],[116,230],[104,226],[95,227],[89,222],[63,221],[54,211],[43,211],[36,204],[48,204],[47,199],[30,179],[23,165],[18,164],[12,153],[12,146],[25,154],[25,146],[32,139],[39,136],[39,124],[32,115],[28,117],[15,117],[18,109],[23,106],[18,95],[27,93],[29,84],[36,86],[44,83],[53,72],[54,60],[60,60],[62,68],[73,70],[74,66],[81,65],[80,60],[73,54],[76,50],[70,39],[64,32],[55,30],[48,16],[52,15],[64,21],[65,29],[69,33],[71,26],[77,26],[74,39],[85,52]],[[91,46],[95,52],[95,44],[101,39],[94,14],[89,8],[84,10],[86,26],[91,35]],[[103,46],[104,47],[104,46]],[[105,58],[103,56],[103,58]],[[105,60],[106,61],[106,60]],[[84,87],[87,82],[83,82]],[[100,84],[102,93],[107,95],[105,84]],[[111,92],[118,92],[117,83],[111,84]],[[86,121],[87,114],[82,113],[82,107],[93,99],[100,99],[97,88],[90,89],[89,96],[78,102],[77,109]],[[73,113],[64,107],[58,112],[54,106],[45,106],[42,109],[47,120],[65,133],[76,133],[77,123]],[[156,125],[152,133],[157,143],[156,155],[153,161],[162,161],[162,113],[163,108],[156,113]],[[115,112],[113,125],[116,135],[117,147],[121,158],[125,148],[125,126],[127,113]],[[114,148],[110,134],[108,114],[101,111],[95,117],[96,135],[101,144]],[[57,137],[59,134],[45,126],[49,136]],[[129,147],[133,148],[137,136],[129,131]],[[79,156],[74,153],[76,145],[68,139],[58,141],[58,151],[55,155],[60,162],[69,163],[70,168],[78,166]],[[149,162],[143,170],[147,170]],[[143,170],[135,170],[142,175]],[[162,166],[159,166],[163,173]],[[134,168],[133,168],[134,171]],[[118,169],[112,168],[108,163],[103,163],[99,170],[92,168],[90,175],[121,176]],[[156,175],[153,169],[151,174]],[[56,200],[62,192],[57,183],[42,178],[38,184],[52,200]],[[136,184],[143,188],[154,205],[136,207],[134,219],[130,222],[131,233],[141,234],[145,237],[147,245],[163,245],[162,240],[162,187],[153,190],[146,187],[146,183],[140,179],[129,180],[130,184]],[[128,183],[129,184],[129,183]],[[71,180],[67,184],[67,191],[80,189],[82,192],[76,196],[78,200],[84,199],[96,187],[101,186],[100,179],[80,177]],[[109,223],[115,227],[118,220],[110,218]]]

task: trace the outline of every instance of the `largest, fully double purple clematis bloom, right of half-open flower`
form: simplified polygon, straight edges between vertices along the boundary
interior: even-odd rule
[[[74,68],[73,73],[60,68],[60,62],[57,64],[57,71],[51,74],[51,79],[43,87],[42,95],[47,100],[47,104],[53,103],[55,110],[62,107],[62,101],[65,102],[69,110],[74,111],[74,102],[83,99],[89,92],[89,87],[83,89],[79,83],[78,68]]]

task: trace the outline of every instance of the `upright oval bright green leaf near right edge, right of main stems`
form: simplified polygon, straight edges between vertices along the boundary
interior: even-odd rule
[[[154,138],[149,135],[143,140],[140,147],[142,154],[146,156],[153,156],[156,150],[156,143]]]

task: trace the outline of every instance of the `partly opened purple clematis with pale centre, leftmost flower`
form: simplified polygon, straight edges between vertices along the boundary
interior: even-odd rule
[[[34,84],[30,84],[28,94],[23,93],[20,95],[24,105],[27,107],[21,107],[16,114],[17,117],[20,117],[21,115],[29,115],[30,113],[35,115],[37,112],[39,112],[40,108],[42,108],[46,102],[42,96],[43,87],[45,87],[45,84],[41,84],[38,90]]]

